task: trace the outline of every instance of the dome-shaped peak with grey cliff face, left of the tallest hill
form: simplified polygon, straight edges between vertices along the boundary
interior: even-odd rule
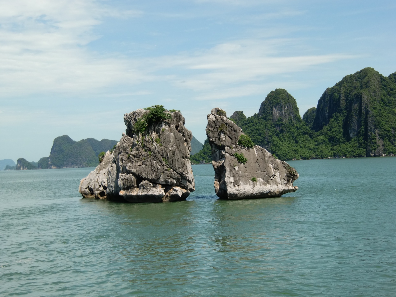
[[[272,122],[276,122],[278,118],[281,118],[282,122],[287,122],[289,118],[293,121],[301,120],[296,100],[285,89],[270,91],[261,103],[258,116]]]

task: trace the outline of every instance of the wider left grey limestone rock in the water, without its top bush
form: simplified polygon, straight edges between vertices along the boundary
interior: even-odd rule
[[[126,134],[114,151],[108,151],[97,168],[80,182],[83,197],[162,202],[184,200],[194,191],[190,164],[191,131],[178,111],[164,114],[168,119],[147,126],[141,133],[135,124],[149,110],[124,115]]]

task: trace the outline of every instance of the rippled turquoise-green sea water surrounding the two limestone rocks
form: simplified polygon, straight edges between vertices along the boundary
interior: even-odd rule
[[[81,199],[92,168],[0,172],[1,296],[395,296],[396,157],[289,162],[299,190]]]

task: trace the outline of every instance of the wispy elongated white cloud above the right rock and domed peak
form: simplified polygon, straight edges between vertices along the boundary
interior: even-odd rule
[[[354,58],[345,54],[279,56],[282,47],[298,42],[281,38],[239,40],[192,55],[162,57],[156,67],[179,69],[181,74],[170,76],[169,81],[200,93],[197,99],[225,99],[260,93],[275,75]]]

